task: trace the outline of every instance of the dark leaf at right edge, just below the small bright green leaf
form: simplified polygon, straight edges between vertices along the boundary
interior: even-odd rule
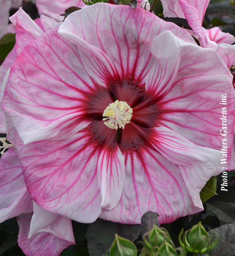
[[[206,203],[206,211],[211,211],[217,218],[225,223],[235,222],[235,203],[212,201]]]

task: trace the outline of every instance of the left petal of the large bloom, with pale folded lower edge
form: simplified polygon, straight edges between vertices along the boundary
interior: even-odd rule
[[[62,139],[63,134],[70,136],[86,127],[90,121],[83,118],[84,98],[96,86],[84,71],[75,45],[53,30],[38,39],[24,48],[11,67],[2,102],[24,143],[55,137],[61,130]],[[9,99],[12,93],[17,104]],[[44,100],[38,101],[39,96]]]

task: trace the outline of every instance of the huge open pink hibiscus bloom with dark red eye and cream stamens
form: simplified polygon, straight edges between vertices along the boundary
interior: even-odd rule
[[[229,157],[234,90],[217,53],[140,8],[95,4],[22,50],[2,107],[39,206],[80,222],[152,210],[163,223],[201,211],[221,172],[224,94]]]

